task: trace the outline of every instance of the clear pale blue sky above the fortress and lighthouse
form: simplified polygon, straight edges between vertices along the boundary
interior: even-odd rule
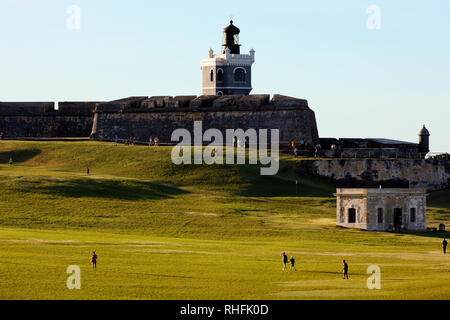
[[[448,0],[0,0],[0,101],[200,95],[230,17],[252,93],[307,99],[320,137],[417,142],[425,124],[450,152]]]

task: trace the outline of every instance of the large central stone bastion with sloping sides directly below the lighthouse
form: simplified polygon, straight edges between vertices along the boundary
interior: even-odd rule
[[[184,128],[193,133],[194,121],[202,120],[203,130],[279,129],[280,141],[303,139],[318,143],[314,111],[308,102],[281,95],[154,96],[130,97],[99,103],[95,109],[91,137],[114,140],[133,137],[148,141],[157,136],[170,142],[172,132]]]

